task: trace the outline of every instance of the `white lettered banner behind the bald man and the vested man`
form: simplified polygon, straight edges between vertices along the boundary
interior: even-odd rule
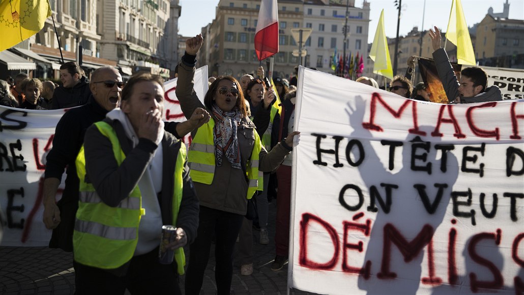
[[[194,90],[203,101],[208,68],[195,71]],[[185,121],[174,94],[176,79],[164,83],[165,120]],[[51,230],[42,222],[47,152],[64,110],[20,110],[0,106],[0,208],[5,212],[2,246],[47,246]],[[184,138],[188,142],[188,138]],[[65,174],[62,176],[63,188]],[[59,191],[59,192],[60,192]],[[60,196],[57,196],[58,199]]]

